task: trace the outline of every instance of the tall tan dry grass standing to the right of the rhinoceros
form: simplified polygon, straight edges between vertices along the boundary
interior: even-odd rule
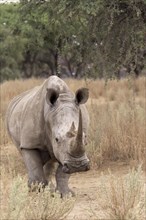
[[[145,78],[110,81],[102,101],[91,98],[89,155],[93,166],[106,160],[124,160],[142,162],[145,168],[145,84]]]

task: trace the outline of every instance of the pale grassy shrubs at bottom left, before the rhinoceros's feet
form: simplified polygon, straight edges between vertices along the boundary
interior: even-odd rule
[[[73,208],[75,199],[61,199],[50,193],[49,186],[39,192],[28,192],[25,176],[6,175],[1,170],[1,220],[58,220],[64,219]]]

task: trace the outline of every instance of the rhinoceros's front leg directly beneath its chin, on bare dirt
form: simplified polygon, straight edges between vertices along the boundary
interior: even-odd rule
[[[62,165],[59,164],[56,171],[56,191],[60,192],[61,197],[64,197],[69,193],[71,193],[72,196],[75,195],[74,192],[68,187],[69,177],[70,174],[64,173],[62,171]]]

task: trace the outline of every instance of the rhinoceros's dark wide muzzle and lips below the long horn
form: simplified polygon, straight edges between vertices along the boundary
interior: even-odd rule
[[[77,163],[64,162],[63,168],[64,173],[75,173],[75,172],[85,172],[90,170],[89,160],[81,161]]]

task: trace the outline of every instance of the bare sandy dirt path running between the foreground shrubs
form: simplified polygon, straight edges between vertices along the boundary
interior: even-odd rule
[[[97,188],[102,177],[108,174],[108,168],[115,176],[121,176],[129,171],[129,166],[124,163],[109,163],[97,171],[73,174],[70,179],[70,187],[76,193],[76,202],[73,210],[66,220],[90,220],[100,219],[102,210],[98,207]]]

